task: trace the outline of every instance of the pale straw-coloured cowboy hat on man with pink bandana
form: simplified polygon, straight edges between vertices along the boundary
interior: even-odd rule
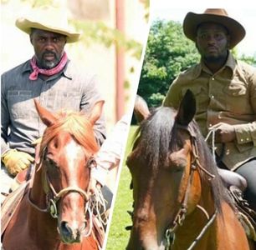
[[[56,7],[41,7],[34,9],[26,18],[18,18],[16,26],[23,32],[30,34],[31,28],[56,32],[67,37],[67,42],[77,42],[81,33],[74,32],[68,25],[65,13]]]

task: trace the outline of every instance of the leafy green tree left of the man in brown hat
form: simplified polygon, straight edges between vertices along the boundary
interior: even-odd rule
[[[173,21],[156,20],[151,26],[138,94],[150,107],[159,106],[177,75],[198,62],[194,43]]]

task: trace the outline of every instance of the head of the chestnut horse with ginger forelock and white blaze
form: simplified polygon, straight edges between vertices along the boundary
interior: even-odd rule
[[[86,117],[82,112],[53,114],[35,101],[47,128],[29,199],[34,208],[57,218],[64,243],[80,243],[91,232],[90,168],[95,167],[94,154],[99,149],[93,125],[100,117],[103,103],[96,102]]]

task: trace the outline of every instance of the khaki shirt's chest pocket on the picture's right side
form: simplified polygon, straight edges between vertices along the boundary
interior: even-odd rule
[[[227,111],[244,114],[250,112],[249,97],[247,87],[240,82],[233,82],[226,87],[223,87],[225,96],[225,106]]]

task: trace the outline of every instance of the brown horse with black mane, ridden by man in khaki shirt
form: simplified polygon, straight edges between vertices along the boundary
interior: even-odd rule
[[[127,158],[134,198],[129,250],[248,249],[195,112],[189,91],[178,111],[144,112]]]

